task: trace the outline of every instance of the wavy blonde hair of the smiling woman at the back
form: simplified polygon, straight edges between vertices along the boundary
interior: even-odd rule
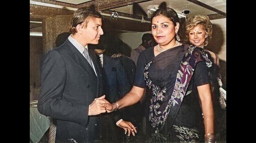
[[[205,38],[204,45],[208,45],[211,37],[212,37],[212,23],[207,15],[195,15],[190,17],[186,20],[186,40],[189,42],[189,31],[195,28],[196,25],[202,25],[206,34],[207,38]]]

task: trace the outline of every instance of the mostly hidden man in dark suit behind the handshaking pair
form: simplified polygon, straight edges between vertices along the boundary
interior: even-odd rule
[[[108,49],[106,37],[101,37],[99,44],[89,45],[89,49],[94,50],[94,52],[99,56],[99,62],[102,67],[103,84],[106,99],[113,103],[131,89],[125,68],[122,66],[121,62],[104,53]],[[108,143],[120,143],[123,141],[123,133],[121,128],[117,127],[116,122],[121,119],[121,112],[112,112],[110,114],[105,114],[101,116],[101,121],[104,124],[102,126],[102,138],[103,142]]]

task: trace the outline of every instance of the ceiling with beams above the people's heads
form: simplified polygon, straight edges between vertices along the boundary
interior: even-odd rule
[[[123,18],[119,22],[125,21],[127,24],[131,22],[127,20],[128,18],[132,19],[133,23],[141,24],[143,15],[143,19],[148,24],[151,12],[148,9],[157,8],[164,1],[181,16],[182,11],[189,10],[190,13],[185,15],[186,17],[204,14],[210,19],[226,18],[226,0],[30,0],[30,22],[42,21],[54,15],[72,15],[77,8],[94,4],[98,11],[106,13],[105,16],[109,22],[113,21],[111,13],[115,11],[119,15],[115,20]],[[30,31],[40,31],[40,25],[40,23],[30,23]],[[120,30],[147,31],[148,29],[121,28]]]

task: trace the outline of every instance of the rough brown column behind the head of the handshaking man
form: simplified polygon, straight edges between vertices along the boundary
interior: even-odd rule
[[[46,54],[56,47],[55,40],[63,32],[69,32],[72,15],[57,15],[43,19],[43,51]]]

